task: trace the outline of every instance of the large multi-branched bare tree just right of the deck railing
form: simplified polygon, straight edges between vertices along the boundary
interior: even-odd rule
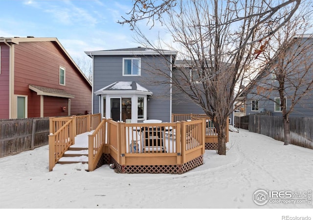
[[[172,35],[179,57],[190,66],[190,69],[177,67],[175,74],[167,75],[170,77],[167,83],[213,119],[218,154],[225,155],[227,117],[238,94],[246,89],[241,85],[247,78],[253,78],[256,66],[267,64],[268,59],[259,59],[264,57],[267,46],[264,42],[290,20],[301,0],[162,0],[159,7],[154,2],[135,1],[130,20],[120,23],[129,23],[145,44],[158,51],[160,44],[153,45],[135,22],[153,20],[154,16],[161,21]],[[278,13],[289,5],[288,14]],[[149,13],[145,15],[144,10]]]

